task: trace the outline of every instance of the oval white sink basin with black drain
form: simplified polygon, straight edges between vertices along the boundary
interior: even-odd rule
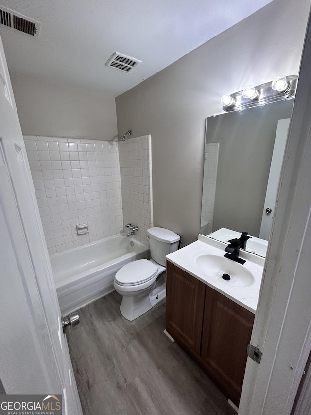
[[[231,287],[249,287],[254,284],[253,274],[243,265],[224,258],[223,256],[203,254],[196,258],[196,265],[208,276]],[[225,281],[223,274],[229,274],[230,280]]]

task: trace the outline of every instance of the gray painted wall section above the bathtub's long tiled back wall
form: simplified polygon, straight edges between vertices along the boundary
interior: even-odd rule
[[[23,135],[111,140],[117,134],[113,96],[10,72]]]

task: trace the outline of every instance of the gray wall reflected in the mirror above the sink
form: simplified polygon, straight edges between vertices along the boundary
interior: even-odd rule
[[[277,122],[293,101],[207,119],[207,143],[219,143],[213,231],[222,227],[259,236]]]

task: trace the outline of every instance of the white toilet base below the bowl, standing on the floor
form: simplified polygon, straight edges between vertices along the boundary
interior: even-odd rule
[[[120,311],[123,317],[132,321],[145,314],[152,307],[155,307],[166,297],[166,284],[164,278],[156,281],[154,288],[146,293],[136,296],[124,296],[120,305]]]

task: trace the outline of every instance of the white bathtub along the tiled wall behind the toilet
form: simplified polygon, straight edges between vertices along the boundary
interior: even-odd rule
[[[114,291],[116,272],[128,262],[143,258],[149,258],[149,249],[125,235],[110,236],[51,255],[62,314],[76,311]]]

